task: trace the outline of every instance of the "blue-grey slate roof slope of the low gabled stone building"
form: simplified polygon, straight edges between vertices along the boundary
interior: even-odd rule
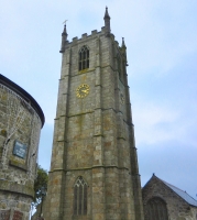
[[[158,178],[158,177],[156,177]],[[160,179],[160,178],[158,178]],[[195,200],[193,197],[190,197],[186,191],[183,191],[182,189],[178,189],[177,187],[160,179],[163,182],[167,187],[169,187],[174,193],[176,193],[179,197],[182,197],[187,204],[197,207],[197,200]]]

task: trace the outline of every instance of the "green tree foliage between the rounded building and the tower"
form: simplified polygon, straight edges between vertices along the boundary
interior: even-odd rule
[[[47,182],[48,182],[47,172],[39,165],[37,178],[35,179],[35,183],[34,183],[35,196],[34,196],[34,201],[33,201],[32,206],[36,207],[39,204],[41,204],[43,196],[44,196],[42,194],[41,189],[44,188],[45,191],[47,190]]]

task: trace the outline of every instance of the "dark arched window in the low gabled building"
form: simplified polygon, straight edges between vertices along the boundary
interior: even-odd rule
[[[168,220],[167,207],[163,199],[154,197],[145,206],[145,220]]]

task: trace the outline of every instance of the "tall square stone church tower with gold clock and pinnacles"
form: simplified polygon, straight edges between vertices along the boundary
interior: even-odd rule
[[[143,220],[127,77],[127,47],[105,26],[67,41],[44,217]]]

